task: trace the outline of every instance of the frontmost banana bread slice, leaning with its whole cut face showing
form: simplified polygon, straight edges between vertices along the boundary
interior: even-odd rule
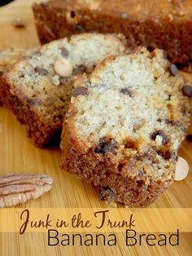
[[[100,199],[144,207],[171,185],[190,122],[185,80],[173,67],[163,51],[142,48],[78,77],[62,168],[93,183]]]

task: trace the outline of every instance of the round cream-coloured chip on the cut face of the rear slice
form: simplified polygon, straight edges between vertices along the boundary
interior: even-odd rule
[[[68,60],[58,60],[55,62],[54,65],[55,72],[60,76],[60,77],[69,77],[72,75],[72,64]]]

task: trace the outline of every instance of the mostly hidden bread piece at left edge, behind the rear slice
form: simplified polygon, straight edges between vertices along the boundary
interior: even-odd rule
[[[24,49],[6,49],[0,51],[0,83],[2,73],[5,71],[7,66],[15,64],[22,55],[26,55],[28,50]],[[2,105],[1,95],[0,95],[0,105]]]

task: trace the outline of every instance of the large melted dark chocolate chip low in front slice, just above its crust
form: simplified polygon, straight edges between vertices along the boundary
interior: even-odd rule
[[[116,144],[116,140],[114,139],[106,141],[105,138],[102,138],[99,140],[98,146],[95,148],[94,152],[101,153],[103,155],[107,152],[113,152],[116,148]]]

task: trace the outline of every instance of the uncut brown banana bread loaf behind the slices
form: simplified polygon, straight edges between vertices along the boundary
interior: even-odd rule
[[[192,60],[191,0],[57,0],[34,4],[33,12],[41,43],[90,31],[123,33],[129,47],[164,49],[173,63]]]

